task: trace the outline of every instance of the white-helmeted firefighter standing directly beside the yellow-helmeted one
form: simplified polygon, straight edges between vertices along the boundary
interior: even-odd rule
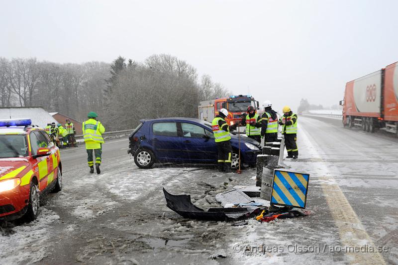
[[[264,101],[264,113],[261,116],[261,137],[264,137],[264,145],[267,142],[278,141],[278,115],[272,110],[269,100]]]

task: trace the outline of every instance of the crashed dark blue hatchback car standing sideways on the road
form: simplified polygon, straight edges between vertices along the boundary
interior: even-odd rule
[[[211,124],[191,118],[161,118],[141,120],[129,135],[129,150],[135,164],[151,168],[160,163],[216,163],[217,147]],[[238,135],[231,134],[232,168],[239,166]],[[260,143],[240,137],[241,164],[254,166]]]

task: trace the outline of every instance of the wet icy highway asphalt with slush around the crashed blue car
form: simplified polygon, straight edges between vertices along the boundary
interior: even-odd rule
[[[254,169],[142,170],[127,147],[126,138],[103,145],[100,175],[88,173],[84,148],[62,150],[63,190],[42,201],[35,222],[2,232],[0,264],[398,263],[397,138],[299,117],[300,158],[285,163],[310,174],[312,214],[240,227],[183,219],[166,207],[162,187],[218,207],[215,194],[255,185]],[[384,252],[346,249],[354,245]]]

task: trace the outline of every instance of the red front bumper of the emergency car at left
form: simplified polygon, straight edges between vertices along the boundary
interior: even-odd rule
[[[0,193],[0,220],[13,220],[25,213],[29,202],[29,185]]]

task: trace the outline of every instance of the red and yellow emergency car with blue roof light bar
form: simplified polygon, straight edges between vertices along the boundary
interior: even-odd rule
[[[0,120],[0,221],[36,219],[39,199],[62,189],[58,147],[30,119]]]

